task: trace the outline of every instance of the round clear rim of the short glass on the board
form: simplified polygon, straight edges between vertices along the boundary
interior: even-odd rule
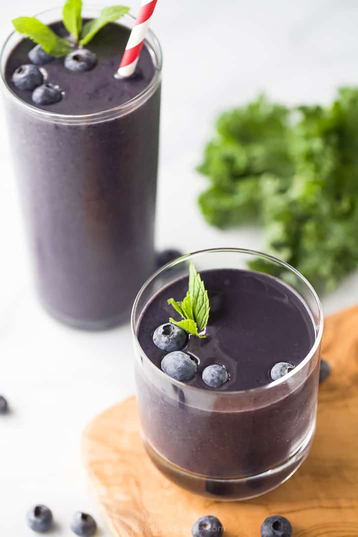
[[[162,371],[162,369],[159,369],[159,367],[157,367],[155,364],[153,364],[153,362],[149,359],[147,354],[142,349],[142,346],[141,346],[141,344],[140,344],[140,342],[138,341],[138,338],[137,338],[137,332],[136,332],[136,327],[135,327],[135,315],[137,313],[138,302],[139,302],[142,294],[144,293],[145,289],[147,289],[148,286],[160,274],[162,274],[163,272],[166,272],[168,269],[171,269],[172,267],[178,265],[179,263],[182,263],[186,259],[191,259],[191,258],[193,258],[195,256],[199,256],[199,255],[202,255],[202,254],[205,254],[205,253],[224,253],[224,252],[228,252],[228,253],[229,252],[231,252],[231,253],[244,253],[244,254],[247,254],[247,255],[259,256],[259,257],[265,258],[265,259],[267,259],[269,261],[272,261],[272,262],[274,262],[276,264],[279,264],[282,267],[286,268],[287,270],[293,272],[294,274],[297,275],[299,280],[301,280],[305,284],[305,286],[309,289],[309,291],[311,292],[313,298],[315,299],[315,302],[316,302],[317,307],[318,307],[318,311],[319,311],[318,330],[317,330],[317,333],[316,333],[315,342],[313,343],[313,345],[312,345],[310,351],[308,352],[308,354],[306,354],[304,359],[301,360],[301,362],[299,362],[298,366],[294,367],[289,373],[287,373],[286,375],[282,376],[280,379],[277,379],[277,380],[274,380],[272,382],[269,382],[268,384],[265,384],[265,386],[259,386],[257,388],[250,388],[250,389],[244,389],[244,390],[231,390],[231,391],[226,391],[226,390],[225,391],[207,390],[205,388],[189,386],[185,382],[182,382],[182,381],[179,381],[179,380],[176,380],[176,379],[173,379],[173,378],[169,377],[168,375],[166,375]],[[255,272],[255,271],[253,271],[253,272]],[[297,269],[295,269],[295,267],[289,265],[288,263],[282,261],[281,259],[279,259],[277,257],[274,257],[274,256],[272,256],[272,255],[270,255],[268,253],[260,252],[258,250],[251,250],[251,249],[246,249],[246,248],[209,248],[209,249],[205,249],[205,250],[196,250],[194,252],[187,253],[184,256],[178,257],[177,259],[174,259],[173,261],[171,261],[170,263],[167,263],[163,267],[160,267],[160,269],[158,269],[154,274],[152,274],[144,282],[144,284],[142,285],[142,287],[138,291],[137,296],[136,296],[135,301],[134,301],[134,304],[133,304],[131,315],[130,315],[130,328],[131,328],[132,336],[134,338],[134,343],[135,343],[135,345],[137,347],[137,350],[140,352],[140,355],[145,358],[146,362],[149,363],[150,367],[152,367],[152,370],[154,372],[157,372],[157,374],[159,374],[160,378],[162,378],[163,381],[170,382],[171,384],[174,384],[174,385],[178,386],[178,388],[181,388],[181,389],[184,388],[185,390],[190,390],[190,391],[193,391],[194,393],[203,393],[204,392],[205,394],[208,394],[208,391],[209,391],[209,393],[212,393],[212,394],[214,394],[216,396],[220,395],[220,397],[227,397],[227,396],[233,396],[233,395],[244,395],[244,394],[249,394],[249,395],[255,395],[255,394],[259,394],[259,393],[261,394],[261,393],[265,392],[266,390],[278,387],[281,384],[283,384],[284,382],[286,382],[287,380],[293,378],[297,373],[299,373],[299,371],[301,371],[301,369],[303,369],[310,362],[310,360],[313,358],[313,356],[315,356],[315,354],[316,354],[316,352],[318,350],[318,347],[320,345],[320,342],[322,340],[323,327],[324,327],[324,316],[323,316],[322,304],[320,303],[318,294],[316,293],[315,289],[310,284],[310,282],[303,276],[303,274],[301,274],[301,272],[299,272]],[[316,332],[316,327],[315,327],[315,332]]]

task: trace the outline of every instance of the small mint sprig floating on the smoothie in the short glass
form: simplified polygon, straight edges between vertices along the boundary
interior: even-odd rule
[[[169,299],[168,304],[173,306],[182,317],[182,321],[176,321],[170,317],[171,323],[193,336],[206,337],[202,332],[209,320],[209,297],[204,282],[200,278],[200,274],[196,272],[192,261],[189,266],[189,291],[181,302]]]

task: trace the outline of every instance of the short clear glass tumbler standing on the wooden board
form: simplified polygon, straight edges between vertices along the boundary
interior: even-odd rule
[[[213,269],[248,271],[253,259],[264,261],[275,272],[278,269],[282,286],[304,302],[314,332],[309,353],[281,379],[240,391],[189,386],[164,374],[138,340],[148,303],[177,281],[180,271],[187,274],[189,260],[204,278],[205,271]],[[315,432],[323,315],[316,292],[293,267],[239,249],[182,257],[144,284],[134,303],[131,325],[141,433],[150,458],[167,477],[203,495],[246,499],[277,487],[297,470]]]

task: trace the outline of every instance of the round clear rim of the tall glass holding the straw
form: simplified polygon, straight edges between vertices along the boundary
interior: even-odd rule
[[[84,4],[84,9],[93,9],[93,10],[100,10],[103,8],[103,5],[98,4]],[[60,10],[62,7],[55,6],[53,8],[42,10],[38,13],[35,13],[35,17],[41,17],[42,15],[45,15],[47,13],[51,13],[52,11]],[[126,13],[123,17],[121,17],[121,20],[131,20],[132,22],[135,21],[135,17],[131,15],[130,13]],[[92,123],[92,122],[99,122],[104,121],[106,119],[111,119],[114,117],[121,117],[122,115],[126,115],[127,113],[131,112],[140,104],[142,104],[143,101],[150,98],[155,90],[157,89],[161,76],[162,76],[162,64],[163,64],[163,52],[162,47],[160,46],[160,42],[156,36],[156,34],[148,28],[147,31],[147,37],[145,38],[145,43],[147,43],[147,46],[149,48],[149,52],[154,53],[154,67],[155,67],[155,74],[153,78],[151,79],[150,83],[144,90],[142,90],[138,95],[133,97],[133,99],[130,99],[126,103],[123,103],[119,106],[114,106],[113,108],[107,108],[107,110],[103,110],[100,112],[93,112],[91,114],[59,114],[56,112],[51,112],[48,110],[42,110],[41,108],[37,108],[36,106],[33,106],[29,103],[26,103],[24,100],[20,99],[16,93],[12,91],[9,84],[6,82],[5,73],[3,70],[3,66],[6,63],[7,59],[4,59],[5,49],[6,46],[8,46],[10,40],[17,35],[18,32],[16,30],[13,30],[8,37],[5,38],[5,40],[2,43],[1,46],[1,52],[0,52],[0,80],[1,85],[6,92],[6,95],[8,95],[10,98],[12,98],[16,103],[20,104],[20,106],[23,106],[25,110],[29,113],[32,113],[33,115],[38,116],[40,119],[47,120],[47,121],[57,121],[57,122],[63,122],[66,124],[71,123]],[[152,44],[148,40],[148,36],[150,37],[150,40]],[[151,54],[153,56],[153,54]],[[5,62],[5,63],[3,63]],[[115,73],[113,73],[113,76]]]

